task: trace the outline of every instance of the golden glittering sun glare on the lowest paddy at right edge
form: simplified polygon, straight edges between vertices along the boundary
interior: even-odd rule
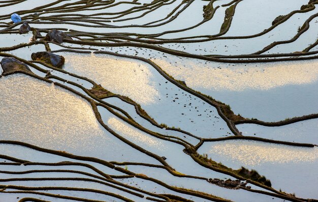
[[[212,143],[207,152],[239,162],[244,166],[315,162],[318,159],[317,148],[299,148],[245,140]]]

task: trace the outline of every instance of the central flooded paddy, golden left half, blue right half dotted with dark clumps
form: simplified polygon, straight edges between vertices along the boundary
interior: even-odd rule
[[[65,54],[66,61],[72,60],[73,55],[85,60],[67,62],[67,71],[93,79],[113,93],[129,96],[159,124],[201,137],[232,134],[213,106],[179,89],[145,62],[107,54],[79,53]],[[96,61],[100,62],[96,64]]]

